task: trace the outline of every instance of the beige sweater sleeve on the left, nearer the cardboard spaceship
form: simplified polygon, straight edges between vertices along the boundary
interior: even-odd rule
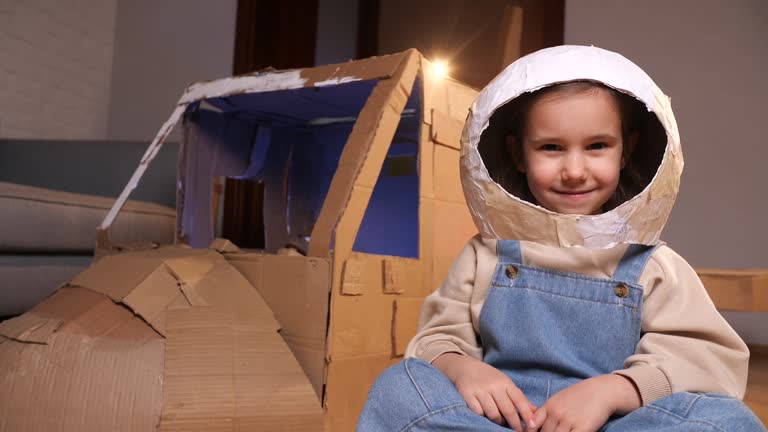
[[[406,349],[406,357],[429,363],[446,352],[482,357],[471,305],[479,242],[475,237],[467,243],[440,287],[424,300],[419,330]]]

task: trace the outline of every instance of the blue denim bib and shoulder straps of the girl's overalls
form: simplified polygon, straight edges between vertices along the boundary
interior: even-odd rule
[[[526,266],[520,243],[499,241],[480,313],[483,361],[534,405],[583,379],[623,369],[640,340],[643,287],[654,248],[631,245],[611,279]]]

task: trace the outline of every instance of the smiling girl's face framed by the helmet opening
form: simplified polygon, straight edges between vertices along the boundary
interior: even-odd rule
[[[517,168],[540,206],[593,215],[616,191],[622,148],[621,115],[607,91],[555,93],[531,106]]]

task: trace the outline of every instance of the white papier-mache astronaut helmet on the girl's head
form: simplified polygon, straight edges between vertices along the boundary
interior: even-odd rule
[[[504,161],[504,107],[517,97],[570,81],[602,83],[641,101],[647,111],[631,158],[647,179],[626,201],[597,215],[560,214],[513,195],[498,182]],[[509,65],[475,99],[461,138],[461,181],[472,218],[489,239],[550,246],[609,248],[659,242],[680,185],[683,155],[670,99],[634,63],[611,51],[558,46]],[[647,183],[647,184],[646,184]]]

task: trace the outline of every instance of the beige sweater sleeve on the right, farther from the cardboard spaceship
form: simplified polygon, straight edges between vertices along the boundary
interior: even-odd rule
[[[749,351],[715,309],[691,266],[662,246],[641,277],[642,336],[625,369],[643,405],[680,391],[743,398]]]

